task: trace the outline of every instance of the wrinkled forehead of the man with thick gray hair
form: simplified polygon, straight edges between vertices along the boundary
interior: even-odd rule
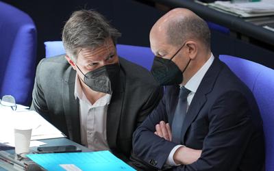
[[[83,58],[87,60],[100,60],[101,57],[105,57],[105,55],[109,55],[110,53],[114,53],[116,51],[116,47],[112,40],[107,40],[101,46],[92,49],[92,48],[82,48],[79,51],[78,58]]]

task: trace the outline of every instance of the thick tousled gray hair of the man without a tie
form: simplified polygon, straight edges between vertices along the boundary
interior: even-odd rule
[[[62,42],[66,54],[76,62],[77,49],[100,47],[108,38],[116,44],[121,33],[95,10],[73,12],[62,31]]]

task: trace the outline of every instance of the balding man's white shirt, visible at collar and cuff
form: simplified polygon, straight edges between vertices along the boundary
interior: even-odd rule
[[[213,54],[211,53],[211,56],[210,58],[208,59],[208,61],[203,64],[203,66],[197,71],[197,73],[195,73],[195,75],[193,75],[190,80],[188,80],[188,82],[186,83],[186,85],[184,86],[185,88],[187,88],[188,90],[190,90],[191,92],[188,94],[188,98],[187,98],[187,101],[188,101],[188,104],[187,104],[187,107],[186,107],[186,111],[188,110],[188,107],[192,101],[192,98],[194,97],[200,83],[201,83],[201,80],[203,79],[203,76],[206,75],[206,72],[208,71],[208,68],[210,68],[212,62],[214,60],[214,56]],[[180,85],[182,86],[182,85]],[[177,164],[175,163],[175,161],[173,160],[173,155],[175,153],[175,151],[181,147],[183,145],[177,145],[175,146],[172,150],[171,150],[171,153],[169,153],[169,157],[167,158],[166,160],[166,164],[169,165],[169,166],[177,166]]]

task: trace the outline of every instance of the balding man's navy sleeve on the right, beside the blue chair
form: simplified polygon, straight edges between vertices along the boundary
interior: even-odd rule
[[[209,132],[203,141],[201,157],[190,165],[174,170],[237,170],[242,153],[247,147],[254,127],[251,125],[251,109],[245,96],[229,91],[216,98],[209,111]],[[255,149],[254,149],[255,151]],[[257,155],[254,153],[254,155]],[[260,157],[260,155],[258,155]],[[258,162],[260,163],[260,158]],[[260,170],[253,168],[253,170]],[[242,170],[242,168],[241,168]]]

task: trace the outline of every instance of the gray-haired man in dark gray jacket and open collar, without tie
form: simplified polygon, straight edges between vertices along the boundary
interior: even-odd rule
[[[38,64],[32,109],[74,142],[127,161],[132,134],[162,89],[148,70],[117,55],[120,35],[98,12],[74,12],[62,32],[66,55]]]

